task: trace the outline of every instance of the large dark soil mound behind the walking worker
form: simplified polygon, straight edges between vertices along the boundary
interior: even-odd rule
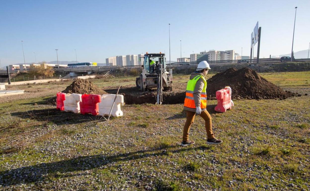
[[[259,74],[247,67],[237,70],[229,68],[225,72],[218,73],[207,80],[208,97],[215,97],[216,91],[230,86],[232,99],[285,99],[294,96],[291,92],[285,92],[280,87],[272,84]]]

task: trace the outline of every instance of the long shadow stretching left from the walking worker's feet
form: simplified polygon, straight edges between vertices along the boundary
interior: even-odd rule
[[[49,177],[57,176],[57,172],[74,172],[81,170],[89,170],[93,168],[99,168],[109,163],[117,163],[120,161],[132,161],[140,158],[148,158],[150,156],[160,156],[166,155],[167,152],[164,149],[175,148],[174,150],[169,150],[171,153],[180,153],[189,150],[208,150],[210,147],[199,146],[199,147],[182,147],[176,148],[179,145],[173,145],[169,147],[159,147],[149,150],[138,150],[134,152],[121,153],[116,155],[104,156],[102,154],[91,155],[91,156],[81,156],[77,158],[71,158],[68,160],[62,160],[52,163],[41,163],[37,165],[32,165],[28,167],[20,167],[6,171],[0,171],[0,185],[16,185],[16,184],[28,184],[37,183],[44,181],[44,177],[48,174]],[[148,154],[147,152],[151,152]],[[72,176],[72,175],[66,175]]]

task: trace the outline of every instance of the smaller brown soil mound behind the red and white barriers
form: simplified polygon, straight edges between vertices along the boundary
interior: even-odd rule
[[[62,93],[79,93],[79,94],[108,94],[89,80],[77,79],[67,86]]]

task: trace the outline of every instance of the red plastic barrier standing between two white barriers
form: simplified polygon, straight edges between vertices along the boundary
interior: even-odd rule
[[[101,96],[96,94],[83,94],[82,102],[80,102],[81,114],[85,115],[91,113],[92,115],[99,114],[99,105],[101,102]]]

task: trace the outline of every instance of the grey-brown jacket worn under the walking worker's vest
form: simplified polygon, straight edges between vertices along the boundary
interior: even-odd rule
[[[191,74],[191,76],[189,77],[189,79],[192,80],[193,78],[195,78],[195,77],[198,76],[198,75],[204,76],[204,75],[201,74],[201,73],[193,72],[193,73]],[[206,76],[204,76],[204,77],[206,77]],[[197,81],[196,85],[195,85],[195,89],[194,89],[193,96],[194,96],[194,101],[195,101],[195,106],[196,106],[196,107],[200,107],[200,103],[201,103],[201,102],[200,102],[200,94],[201,94],[201,92],[202,92],[202,89],[203,89],[203,86],[204,86],[204,85],[205,85],[205,84],[204,84],[202,78],[200,78],[200,79]],[[185,106],[184,106],[183,109],[186,110],[186,111],[193,111],[193,112],[196,112],[196,108],[193,109],[193,108],[189,108],[189,107],[185,107]],[[201,110],[202,110],[202,111],[205,111],[206,108],[201,109]]]

